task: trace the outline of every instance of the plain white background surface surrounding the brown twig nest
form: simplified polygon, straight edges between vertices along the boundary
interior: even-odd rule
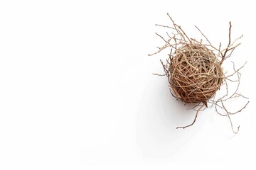
[[[255,169],[252,2],[0,1],[0,169]],[[238,135],[213,108],[176,130],[195,112],[152,75],[167,52],[147,55],[167,12],[215,45],[228,42],[229,21],[233,38],[244,35],[230,59],[247,61]]]

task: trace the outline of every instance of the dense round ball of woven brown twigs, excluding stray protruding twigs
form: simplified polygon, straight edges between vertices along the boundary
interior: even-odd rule
[[[205,103],[223,81],[218,58],[207,47],[187,44],[179,47],[169,67],[169,82],[176,97],[185,103]]]

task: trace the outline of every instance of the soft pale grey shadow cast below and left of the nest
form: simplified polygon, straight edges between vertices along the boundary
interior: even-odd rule
[[[201,129],[203,121],[188,130],[176,130],[194,116],[195,111],[184,109],[184,103],[171,96],[166,79],[153,77],[137,110],[136,142],[141,156],[165,159],[175,154]]]

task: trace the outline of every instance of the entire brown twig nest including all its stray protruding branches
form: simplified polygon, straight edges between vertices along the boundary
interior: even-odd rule
[[[167,15],[169,16],[168,13]],[[211,103],[212,106],[215,106],[215,111],[218,114],[228,116],[233,132],[237,133],[239,126],[236,131],[233,129],[233,123],[230,119],[230,115],[242,111],[249,101],[247,101],[245,106],[235,113],[231,113],[227,110],[225,107],[225,101],[228,101],[230,98],[246,98],[245,96],[238,94],[241,76],[239,71],[245,64],[239,69],[235,69],[235,64],[233,64],[234,72],[230,75],[225,75],[221,66],[223,62],[232,55],[235,48],[240,45],[240,43],[235,45],[235,42],[242,38],[242,36],[231,42],[232,25],[230,22],[228,45],[224,49],[221,49],[221,43],[218,47],[214,47],[208,38],[206,38],[206,35],[204,35],[197,27],[198,31],[200,31],[203,37],[206,38],[207,43],[203,44],[203,40],[198,41],[194,38],[188,38],[188,35],[186,35],[186,33],[181,29],[181,26],[174,23],[171,16],[169,16],[169,18],[173,27],[159,24],[156,24],[156,26],[170,28],[174,30],[174,33],[172,33],[172,35],[166,33],[168,36],[167,38],[156,33],[156,35],[164,40],[165,44],[162,47],[158,47],[159,50],[151,55],[156,55],[166,48],[171,49],[166,63],[160,60],[165,72],[163,75],[168,77],[170,87],[174,91],[174,94],[172,92],[171,94],[184,103],[192,103],[194,105],[193,108],[198,107],[198,109],[196,109],[196,116],[193,123],[196,122],[198,112],[208,107],[208,103]],[[236,80],[230,79],[230,77],[235,75],[237,76]],[[237,89],[231,95],[228,94],[227,81],[235,81],[238,83]],[[226,94],[215,99],[216,91],[220,89],[222,84],[225,84],[226,86]],[[178,128],[187,128],[193,125],[193,123]]]

